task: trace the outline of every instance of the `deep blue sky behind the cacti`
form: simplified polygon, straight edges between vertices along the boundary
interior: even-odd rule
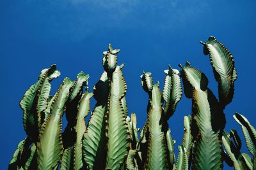
[[[19,141],[26,137],[19,101],[45,67],[57,64],[60,78],[52,81],[54,94],[65,76],[90,74],[90,91],[103,71],[102,52],[108,43],[120,48],[118,63],[127,81],[129,113],[136,112],[138,127],[147,114],[147,94],[140,85],[142,70],[164,83],[164,69],[179,68],[186,60],[209,78],[218,94],[209,57],[199,40],[209,36],[234,55],[238,78],[233,102],[225,109],[226,129],[241,128],[232,118],[237,111],[256,126],[255,109],[255,11],[256,1],[189,0],[0,0],[0,169],[6,169]],[[91,105],[91,110],[95,101]],[[191,113],[191,100],[182,97],[169,121],[180,145],[183,117]],[[225,166],[225,169],[228,169]]]

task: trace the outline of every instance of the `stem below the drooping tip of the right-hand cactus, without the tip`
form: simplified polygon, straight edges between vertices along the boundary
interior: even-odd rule
[[[196,138],[193,167],[195,169],[222,169],[219,132],[214,132],[211,123],[212,105],[207,90],[195,90],[195,120],[199,128]],[[214,106],[212,106],[214,107]]]

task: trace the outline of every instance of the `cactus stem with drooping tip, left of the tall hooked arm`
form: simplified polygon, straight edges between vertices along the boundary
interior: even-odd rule
[[[207,89],[208,80],[204,73],[190,66],[182,67],[182,81],[186,96],[192,97],[192,112],[199,132],[196,135],[193,152],[195,169],[222,169],[220,132],[223,124],[216,127],[216,118],[223,116],[218,101]],[[220,121],[220,120],[218,120]],[[225,124],[224,124],[225,125]]]

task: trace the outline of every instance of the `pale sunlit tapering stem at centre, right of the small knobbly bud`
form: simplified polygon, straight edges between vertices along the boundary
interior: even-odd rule
[[[121,69],[122,66],[116,66],[111,77],[106,126],[108,137],[106,169],[119,169],[127,157],[129,148],[129,132],[121,102],[127,86]]]

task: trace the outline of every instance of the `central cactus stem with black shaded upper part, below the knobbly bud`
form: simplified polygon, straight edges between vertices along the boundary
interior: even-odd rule
[[[97,100],[83,138],[83,157],[88,169],[104,169],[105,157],[105,112],[108,100],[108,74],[106,71],[93,87]]]

